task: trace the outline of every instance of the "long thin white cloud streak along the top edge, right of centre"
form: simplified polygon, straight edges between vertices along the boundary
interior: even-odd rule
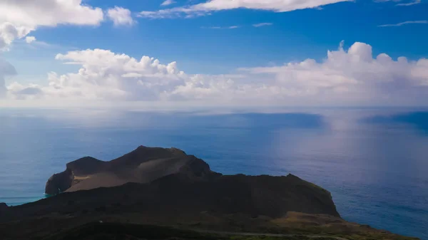
[[[141,11],[139,16],[151,19],[165,19],[176,17],[205,16],[213,11],[231,9],[258,9],[275,12],[295,11],[298,9],[315,9],[319,6],[335,4],[352,0],[211,0],[201,4],[175,7],[173,9],[161,9],[158,11]]]

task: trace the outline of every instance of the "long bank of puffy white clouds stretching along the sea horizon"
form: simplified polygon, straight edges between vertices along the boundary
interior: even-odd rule
[[[216,104],[399,105],[427,104],[428,59],[372,56],[372,46],[354,43],[328,51],[317,62],[307,59],[282,66],[240,68],[239,74],[186,74],[177,63],[140,60],[95,49],[58,54],[56,59],[81,68],[49,73],[49,84],[8,86],[11,98],[198,101]]]

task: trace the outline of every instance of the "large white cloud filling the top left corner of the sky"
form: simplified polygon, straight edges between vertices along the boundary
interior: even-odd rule
[[[101,21],[103,11],[82,4],[81,0],[1,0],[0,50],[7,50],[12,41],[24,38],[39,26],[96,26]]]

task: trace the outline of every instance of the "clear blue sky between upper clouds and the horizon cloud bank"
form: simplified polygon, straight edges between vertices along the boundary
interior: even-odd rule
[[[49,2],[55,0],[43,1],[46,1],[46,14],[50,14]],[[162,16],[161,19],[157,16],[141,16],[139,13],[151,11],[157,14],[160,9],[195,6],[207,1],[178,0],[168,6],[161,6],[163,1],[157,0],[73,1],[78,6],[102,9],[105,13],[103,20],[96,24],[80,22],[76,24],[67,22],[66,19],[58,21],[58,24],[43,23],[40,26],[31,26],[34,30],[25,36],[14,38],[7,46],[8,49],[0,53],[1,58],[11,63],[17,72],[16,75],[6,76],[6,86],[16,82],[21,85],[18,91],[25,89],[24,85],[29,84],[43,88],[44,85],[49,84],[47,77],[49,72],[56,72],[58,75],[76,73],[82,67],[81,65],[64,65],[63,61],[56,59],[58,53],[66,54],[68,51],[100,48],[112,53],[124,53],[138,60],[141,56],[150,56],[159,59],[165,65],[176,61],[179,71],[185,72],[186,75],[228,75],[240,74],[238,71],[240,68],[270,68],[287,63],[299,63],[307,58],[322,63],[327,58],[327,51],[336,51],[341,41],[345,41],[343,45],[345,52],[355,42],[361,42],[372,47],[373,58],[379,53],[387,53],[394,61],[397,61],[399,56],[405,56],[409,61],[415,61],[414,68],[419,66],[417,70],[412,66],[408,68],[412,73],[417,72],[417,81],[423,83],[420,85],[428,84],[425,75],[420,75],[420,72],[426,73],[428,70],[425,68],[421,70],[421,64],[416,63],[428,56],[428,3],[424,0],[357,0],[327,5],[322,4],[325,1],[312,0],[307,2],[320,6],[284,12],[269,9],[272,6],[263,5],[263,1],[248,0],[261,4],[257,5],[261,6],[259,7],[261,9],[235,8],[218,11],[204,9],[201,14],[203,16],[186,17],[180,14],[180,16]],[[220,1],[221,5],[225,0],[215,1]],[[299,1],[276,2],[275,7],[284,8],[290,5],[287,5],[287,2],[293,6],[293,2]],[[411,3],[414,4],[402,6],[402,4]],[[21,7],[19,3],[16,5]],[[109,21],[107,11],[115,6],[129,10],[128,17],[132,18],[132,24],[114,26],[113,21]],[[11,5],[9,7],[12,8]],[[22,6],[22,11],[25,13],[29,10],[26,10],[26,6]],[[55,17],[54,14],[52,18]],[[76,16],[76,18],[84,18],[84,16]],[[4,22],[9,20],[3,19]],[[0,18],[0,24],[1,21]],[[253,26],[261,23],[266,24],[260,27]],[[407,24],[382,26],[400,23]],[[34,36],[36,41],[26,43],[27,36]],[[347,73],[347,71],[344,72]],[[347,77],[350,76],[347,75]],[[276,76],[275,79],[277,78]],[[389,78],[394,77],[389,76]],[[265,83],[270,79],[258,81]],[[274,86],[277,87],[277,85]],[[282,87],[287,88],[287,85],[281,85]],[[7,89],[9,92],[13,91],[11,87]],[[292,87],[292,89],[295,88]],[[305,91],[310,92],[312,88]],[[413,90],[409,93],[414,95]],[[11,94],[8,95],[10,97]],[[417,95],[424,95],[424,93],[418,91]],[[18,98],[24,97],[12,95],[9,99]],[[31,96],[31,99],[35,98]],[[41,97],[37,97],[39,98]],[[98,97],[96,99],[104,100]],[[168,98],[168,100],[178,101],[179,98]],[[382,102],[372,98],[352,102],[357,105],[360,103],[362,105],[387,104],[389,101]],[[391,103],[399,104],[395,101]],[[407,104],[421,103],[421,100],[415,99],[414,102]],[[290,104],[293,104],[292,101]]]

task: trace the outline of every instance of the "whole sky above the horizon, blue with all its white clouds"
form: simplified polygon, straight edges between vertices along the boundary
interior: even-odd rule
[[[1,0],[0,107],[427,106],[426,0]]]

